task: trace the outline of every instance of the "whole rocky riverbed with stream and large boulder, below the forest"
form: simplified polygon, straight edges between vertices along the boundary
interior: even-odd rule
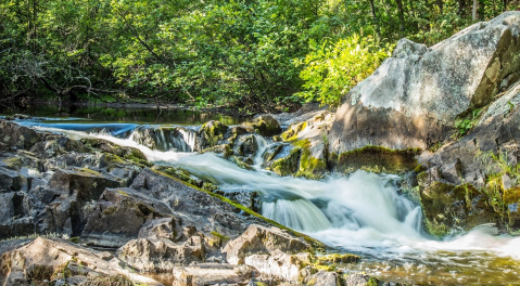
[[[338,109],[240,125],[7,117],[0,284],[384,284],[355,274],[375,257],[410,284],[517,282],[519,47],[520,12],[403,39]]]

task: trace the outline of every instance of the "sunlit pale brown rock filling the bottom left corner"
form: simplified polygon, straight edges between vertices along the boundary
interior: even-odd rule
[[[16,283],[28,285],[31,282],[51,281],[56,274],[71,273],[71,271],[80,272],[83,276],[89,278],[130,274],[128,270],[119,266],[121,261],[117,259],[113,258],[106,261],[102,257],[100,252],[62,239],[38,237],[24,246],[2,253],[0,285],[15,285]],[[160,285],[157,282],[136,273],[132,273],[131,277],[136,282]]]

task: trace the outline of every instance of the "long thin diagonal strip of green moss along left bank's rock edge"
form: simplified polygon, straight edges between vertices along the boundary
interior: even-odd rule
[[[280,224],[280,223],[278,223],[278,222],[276,222],[276,221],[274,221],[274,220],[267,219],[266,217],[264,217],[264,216],[262,216],[262,214],[258,214],[257,212],[253,211],[253,210],[250,209],[250,208],[246,208],[246,207],[242,206],[241,204],[239,204],[239,203],[237,203],[237,202],[230,200],[230,199],[227,198],[227,197],[224,197],[224,196],[221,196],[221,195],[218,195],[218,194],[212,193],[212,192],[210,192],[210,191],[203,190],[203,188],[198,187],[198,186],[195,186],[195,185],[192,185],[192,184],[182,182],[182,181],[180,181],[179,179],[177,179],[177,178],[175,178],[175,177],[168,176],[167,173],[164,173],[164,172],[161,172],[161,171],[157,171],[157,170],[153,170],[153,169],[152,169],[152,171],[155,172],[155,173],[157,173],[157,174],[167,177],[167,178],[169,178],[169,179],[172,179],[172,180],[174,180],[174,181],[183,183],[183,184],[186,184],[186,185],[188,185],[188,186],[190,186],[190,187],[193,187],[194,190],[198,190],[198,191],[200,191],[200,192],[204,192],[204,193],[208,194],[210,196],[215,197],[215,198],[218,198],[218,199],[220,199],[221,202],[227,203],[227,204],[229,204],[229,205],[231,205],[231,206],[233,206],[233,207],[236,207],[236,208],[242,210],[243,212],[245,212],[245,213],[248,213],[248,214],[250,214],[250,216],[253,216],[253,217],[255,217],[255,218],[258,218],[258,219],[261,219],[261,220],[263,220],[263,221],[265,221],[265,222],[267,222],[267,223],[269,223],[269,224],[271,224],[271,225],[275,225],[275,226],[281,229],[281,230],[286,230],[286,231],[288,231],[289,233],[291,233],[292,235],[294,235],[294,236],[296,236],[296,237],[303,237],[307,243],[309,243],[309,244],[313,246],[313,248],[314,248],[315,251],[322,251],[322,249],[325,249],[325,245],[324,245],[321,242],[316,240],[316,239],[314,239],[314,238],[312,238],[310,236],[307,236],[307,235],[305,235],[305,234],[299,233],[299,232],[296,232],[296,231],[294,231],[294,230],[291,230],[291,229],[289,229],[289,227],[287,227],[287,226],[284,226],[284,225],[282,225],[282,224]]]

